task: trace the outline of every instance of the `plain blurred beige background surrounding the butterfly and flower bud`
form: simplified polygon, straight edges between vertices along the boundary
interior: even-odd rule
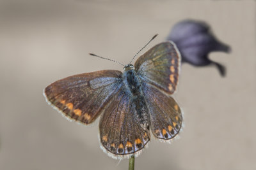
[[[175,98],[184,131],[172,144],[152,139],[136,169],[256,169],[255,1],[0,1],[0,169],[127,169],[99,147],[98,124],[68,122],[45,103],[44,87],[72,74],[122,66],[164,40],[176,22],[212,25],[232,53],[227,66],[184,64]]]

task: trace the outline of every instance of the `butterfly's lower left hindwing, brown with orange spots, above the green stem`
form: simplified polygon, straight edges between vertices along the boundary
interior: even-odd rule
[[[131,96],[120,90],[100,118],[100,143],[114,159],[137,156],[150,141],[150,132],[134,117]]]

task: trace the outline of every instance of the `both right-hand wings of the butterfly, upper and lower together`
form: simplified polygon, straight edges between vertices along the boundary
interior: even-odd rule
[[[170,96],[179,79],[179,50],[172,41],[159,43],[141,55],[134,66],[142,83],[152,133],[164,141],[174,138],[182,126],[180,108]]]

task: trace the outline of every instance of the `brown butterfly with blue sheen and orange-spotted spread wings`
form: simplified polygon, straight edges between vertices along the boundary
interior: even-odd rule
[[[48,103],[68,120],[84,125],[98,117],[100,146],[114,159],[138,156],[150,131],[171,141],[182,127],[177,89],[180,53],[172,41],[159,43],[124,66],[58,80],[44,89]]]

